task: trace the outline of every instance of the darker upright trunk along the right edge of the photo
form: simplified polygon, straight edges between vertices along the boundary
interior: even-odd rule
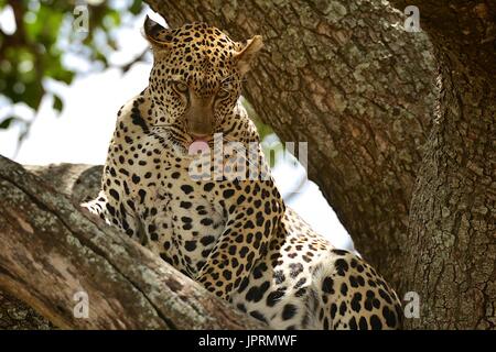
[[[401,4],[398,4],[401,6]],[[411,328],[496,328],[496,3],[418,1],[441,96],[411,202]]]

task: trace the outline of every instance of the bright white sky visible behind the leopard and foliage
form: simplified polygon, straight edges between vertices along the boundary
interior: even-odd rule
[[[111,63],[127,63],[147,48],[148,44],[141,35],[144,14],[145,12],[130,21],[123,21],[122,26],[116,30],[120,48],[117,53],[110,54]],[[150,15],[155,21],[160,19],[153,13]],[[8,16],[6,13],[0,13],[2,28],[8,25]],[[160,22],[164,23],[162,19]],[[13,107],[14,111],[24,119],[31,120],[34,117],[34,122],[17,154],[20,127],[13,125],[7,131],[0,130],[0,154],[14,158],[21,164],[104,164],[117,110],[148,84],[151,55],[147,57],[145,63],[134,64],[126,74],[122,74],[119,68],[108,68],[78,74],[71,86],[45,81],[46,90],[56,92],[63,99],[62,113],[58,116],[52,109],[51,96],[45,96],[36,116],[25,106],[17,105]],[[66,55],[65,63],[71,67],[91,66],[90,63],[85,63],[74,55]],[[0,121],[9,109],[12,107],[0,99]],[[312,160],[309,160],[309,163],[312,163]],[[281,194],[288,196],[295,188],[295,183],[304,177],[304,169],[301,166],[295,168],[292,163],[279,162],[273,169],[273,176]],[[299,194],[288,199],[288,205],[317,232],[330,238],[335,246],[353,249],[349,235],[315,184],[306,182]]]

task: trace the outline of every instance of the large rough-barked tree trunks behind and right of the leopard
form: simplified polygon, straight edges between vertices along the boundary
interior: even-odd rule
[[[418,1],[424,36],[387,2],[148,2],[171,25],[263,35],[247,98],[309,141],[310,177],[358,250],[419,293],[410,327],[495,327],[495,3]]]

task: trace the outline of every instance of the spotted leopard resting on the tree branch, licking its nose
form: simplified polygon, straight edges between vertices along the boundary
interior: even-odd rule
[[[315,232],[274,184],[241,103],[262,37],[149,16],[143,36],[149,84],[119,109],[101,188],[82,206],[271,329],[400,329],[384,277]]]

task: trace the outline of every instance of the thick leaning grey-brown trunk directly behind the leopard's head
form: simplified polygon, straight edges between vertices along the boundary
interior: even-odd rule
[[[308,142],[319,184],[358,251],[396,285],[431,125],[433,57],[381,1],[147,1],[171,26],[261,34],[245,96],[283,141]]]

